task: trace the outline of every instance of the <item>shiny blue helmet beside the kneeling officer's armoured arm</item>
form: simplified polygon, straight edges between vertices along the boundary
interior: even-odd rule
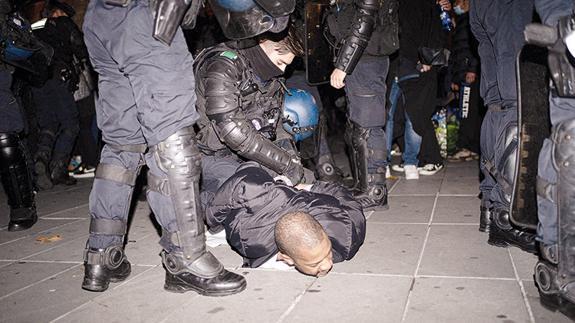
[[[315,98],[305,90],[289,89],[284,96],[283,127],[294,140],[302,141],[313,135],[319,123],[319,108]]]

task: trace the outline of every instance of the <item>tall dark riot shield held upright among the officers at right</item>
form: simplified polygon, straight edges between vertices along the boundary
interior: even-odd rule
[[[537,161],[551,133],[547,49],[525,45],[517,57],[517,167],[510,218],[520,227],[537,228]]]

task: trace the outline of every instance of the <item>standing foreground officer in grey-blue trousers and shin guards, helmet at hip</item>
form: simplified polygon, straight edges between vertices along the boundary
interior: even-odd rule
[[[189,4],[93,0],[88,6],[84,34],[100,75],[97,118],[106,145],[90,194],[84,289],[104,291],[130,274],[124,235],[144,163],[149,182],[163,188],[161,193],[149,190],[147,197],[162,226],[164,288],[223,296],[246,287],[242,276],[225,270],[206,250],[199,205],[201,160],[193,128],[199,117],[193,59],[180,30],[180,24],[194,25],[201,1]],[[223,15],[224,33],[243,38],[281,31],[294,3],[213,0],[211,6]]]

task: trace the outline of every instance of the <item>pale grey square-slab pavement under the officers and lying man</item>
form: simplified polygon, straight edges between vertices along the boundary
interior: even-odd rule
[[[536,257],[489,246],[477,230],[478,166],[390,183],[390,209],[367,213],[364,245],[323,278],[241,268],[228,246],[212,251],[243,274],[223,298],[163,290],[158,233],[145,202],[134,208],[126,252],[133,272],[104,293],[80,288],[91,180],[38,194],[40,220],[8,232],[0,193],[0,322],[569,322],[538,301]]]

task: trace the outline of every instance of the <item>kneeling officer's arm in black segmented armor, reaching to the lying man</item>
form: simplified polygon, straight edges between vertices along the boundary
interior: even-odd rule
[[[206,115],[220,140],[242,157],[287,176],[295,185],[303,177],[296,155],[262,136],[240,109],[241,74],[232,60],[215,57],[201,77],[205,84]]]

